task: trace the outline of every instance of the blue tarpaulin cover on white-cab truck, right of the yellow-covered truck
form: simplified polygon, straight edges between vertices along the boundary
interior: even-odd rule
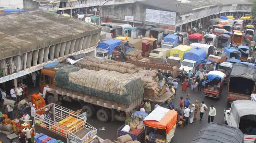
[[[184,59],[199,61],[200,59],[205,59],[206,52],[201,48],[195,48],[187,51],[184,55]]]

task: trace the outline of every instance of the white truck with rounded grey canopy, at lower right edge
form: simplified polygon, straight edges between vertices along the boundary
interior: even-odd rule
[[[224,123],[239,128],[244,134],[244,143],[256,141],[255,109],[254,101],[236,100],[229,110],[224,110]]]

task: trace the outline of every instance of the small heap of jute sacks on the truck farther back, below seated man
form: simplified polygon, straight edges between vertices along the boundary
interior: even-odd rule
[[[149,59],[143,58],[141,53],[142,50],[134,49],[133,51],[127,52],[125,57],[131,61],[150,62]]]

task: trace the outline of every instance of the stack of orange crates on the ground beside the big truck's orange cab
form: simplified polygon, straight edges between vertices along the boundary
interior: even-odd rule
[[[32,104],[35,104],[35,108],[37,110],[45,107],[45,100],[39,94],[34,93],[34,94],[30,95],[30,97],[31,97]],[[44,110],[37,112],[37,114],[39,114],[39,115],[44,114],[44,113],[45,113]]]

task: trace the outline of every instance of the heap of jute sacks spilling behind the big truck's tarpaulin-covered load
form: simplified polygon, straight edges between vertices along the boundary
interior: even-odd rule
[[[159,98],[162,94],[165,93],[165,90],[160,89],[159,81],[156,70],[140,70],[138,73],[134,73],[133,75],[139,76],[142,78],[144,89],[152,89],[154,90],[155,98]],[[162,85],[164,85],[165,79],[162,81]]]

